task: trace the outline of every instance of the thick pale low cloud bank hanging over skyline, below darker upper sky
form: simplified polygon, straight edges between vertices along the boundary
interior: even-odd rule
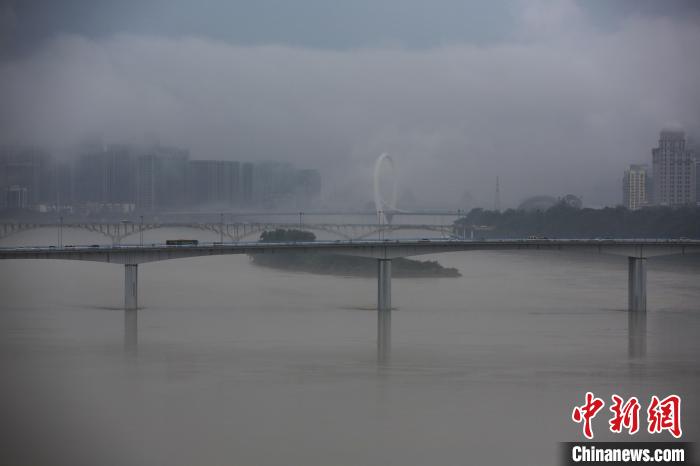
[[[157,134],[193,158],[318,167],[329,199],[357,202],[389,152],[425,206],[459,207],[465,190],[491,206],[497,175],[506,206],[540,193],[618,202],[624,166],[650,161],[663,126],[700,128],[700,30],[633,18],[567,31],[528,15],[517,41],[427,50],[60,36],[0,64],[0,141]]]

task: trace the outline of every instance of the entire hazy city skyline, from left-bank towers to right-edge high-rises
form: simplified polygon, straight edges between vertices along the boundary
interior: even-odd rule
[[[659,147],[649,151],[652,163],[631,164],[624,172],[621,205],[630,210],[697,202],[700,192],[697,152],[687,148],[682,130],[662,129],[659,134]],[[32,166],[36,170],[21,174]],[[12,175],[13,170],[20,175]],[[161,172],[169,174],[155,176]],[[173,178],[174,173],[179,175]],[[401,207],[410,204],[409,208],[415,208],[411,187],[400,188]],[[498,206],[498,176],[495,193],[494,205]],[[43,212],[59,211],[61,205],[84,213],[158,212],[183,207],[337,207],[322,196],[321,173],[317,169],[296,169],[291,163],[272,160],[253,163],[194,159],[187,149],[160,142],[151,142],[149,146],[91,140],[74,148],[68,160],[57,159],[38,146],[1,146],[0,194],[0,210],[14,207]],[[517,208],[522,209],[522,205],[535,198],[547,198],[553,205],[557,198],[567,196],[578,198],[579,204],[584,205],[572,193],[540,193],[523,198]],[[367,201],[342,207],[358,209],[365,207]],[[487,203],[474,204],[466,194],[457,208],[467,212],[475,207],[489,208]]]

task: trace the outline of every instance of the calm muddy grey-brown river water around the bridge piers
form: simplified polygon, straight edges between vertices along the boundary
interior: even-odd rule
[[[462,277],[394,279],[381,358],[375,279],[246,256],[150,263],[125,314],[122,266],[1,261],[2,464],[555,465],[558,442],[583,440],[571,410],[586,391],[606,401],[596,440],[630,439],[607,432],[613,393],[643,411],[679,394],[683,439],[700,438],[697,258],[649,260],[641,319],[625,310],[622,257],[421,259]]]

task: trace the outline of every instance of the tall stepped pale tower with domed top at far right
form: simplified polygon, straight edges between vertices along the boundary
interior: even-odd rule
[[[683,131],[661,131],[659,147],[652,149],[654,203],[664,206],[695,204],[695,161],[685,147]]]

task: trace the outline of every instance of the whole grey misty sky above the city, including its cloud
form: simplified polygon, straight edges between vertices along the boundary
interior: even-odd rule
[[[700,134],[700,2],[0,0],[0,143],[107,142],[321,169],[371,200],[392,154],[426,207],[465,190],[620,202],[663,127]]]

